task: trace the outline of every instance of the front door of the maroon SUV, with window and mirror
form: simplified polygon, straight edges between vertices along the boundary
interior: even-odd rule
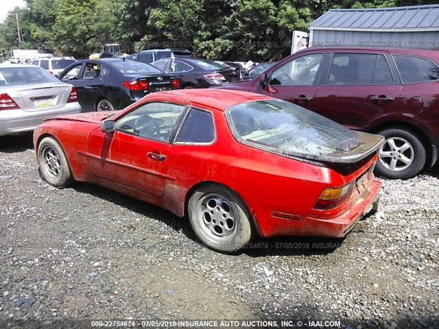
[[[268,83],[257,83],[252,90],[285,101],[311,108],[320,81],[323,53],[307,53],[292,58],[268,73]]]

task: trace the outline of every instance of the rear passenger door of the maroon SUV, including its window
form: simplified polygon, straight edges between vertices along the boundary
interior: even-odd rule
[[[333,52],[311,110],[348,128],[368,130],[401,108],[401,82],[390,55],[379,51]]]

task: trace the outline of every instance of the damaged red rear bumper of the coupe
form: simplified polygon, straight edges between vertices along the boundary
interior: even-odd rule
[[[379,206],[379,188],[381,182],[376,178],[368,190],[339,217],[334,219],[316,219],[311,217],[302,218],[298,235],[306,236],[328,236],[341,238],[348,234],[366,212],[372,207],[376,211]]]

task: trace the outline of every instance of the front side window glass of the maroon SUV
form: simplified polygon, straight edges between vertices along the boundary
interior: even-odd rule
[[[316,78],[322,53],[300,56],[274,70],[270,86],[312,86]]]

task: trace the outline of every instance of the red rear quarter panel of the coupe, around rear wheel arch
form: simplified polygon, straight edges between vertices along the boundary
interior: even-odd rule
[[[278,221],[272,211],[308,216],[328,186],[343,186],[350,177],[331,169],[270,154],[242,145],[233,138],[224,112],[213,110],[217,141],[213,145],[173,145],[168,175],[176,178],[165,187],[164,204],[177,215],[185,213],[185,199],[198,182],[217,182],[233,189],[246,203],[259,233],[272,232]],[[187,194],[189,192],[189,195]],[[300,222],[290,221],[288,234]]]

